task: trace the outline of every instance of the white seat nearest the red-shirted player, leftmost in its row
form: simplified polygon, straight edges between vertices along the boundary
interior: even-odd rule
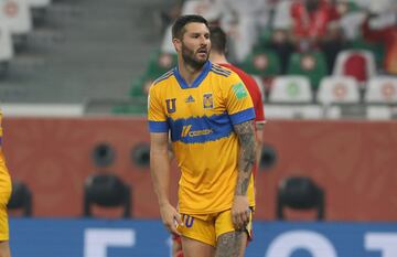
[[[310,81],[305,76],[279,76],[272,82],[270,103],[309,104],[312,99]]]

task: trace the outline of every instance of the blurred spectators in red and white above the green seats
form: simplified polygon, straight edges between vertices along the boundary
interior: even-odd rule
[[[269,47],[277,51],[283,73],[292,52],[321,50],[331,71],[336,54],[350,42],[388,38],[379,69],[397,74],[396,63],[390,62],[397,62],[397,2],[393,0],[187,0],[170,10],[170,22],[179,14],[196,13],[221,25],[230,38],[229,58],[236,63],[256,49]],[[161,50],[173,53],[169,30]]]

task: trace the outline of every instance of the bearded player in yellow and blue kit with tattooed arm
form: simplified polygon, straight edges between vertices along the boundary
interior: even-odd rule
[[[164,226],[185,257],[244,256],[255,206],[251,98],[230,69],[208,61],[207,21],[180,17],[172,28],[178,67],[149,92],[150,164]],[[169,132],[181,169],[179,210],[170,204]]]

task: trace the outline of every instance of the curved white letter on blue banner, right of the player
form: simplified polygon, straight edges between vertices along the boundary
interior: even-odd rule
[[[265,257],[290,257],[298,249],[305,249],[313,257],[337,257],[335,248],[326,237],[309,231],[279,235],[270,243]]]

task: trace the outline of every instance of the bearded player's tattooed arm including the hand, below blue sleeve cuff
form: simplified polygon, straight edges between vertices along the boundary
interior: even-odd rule
[[[243,228],[249,219],[249,202],[247,189],[256,161],[256,141],[254,121],[245,121],[234,126],[239,141],[238,178],[232,207],[233,223],[237,229]]]

